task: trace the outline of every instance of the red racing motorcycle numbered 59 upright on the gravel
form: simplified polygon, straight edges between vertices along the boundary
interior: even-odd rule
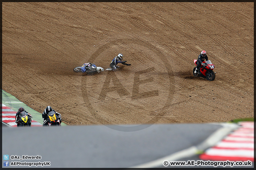
[[[196,62],[197,60],[194,60],[195,64]],[[213,81],[215,79],[215,73],[213,72],[214,67],[215,66],[210,60],[203,61],[197,73],[194,73],[194,71],[196,70],[196,67],[194,67],[193,75],[194,77],[202,77],[209,81]]]

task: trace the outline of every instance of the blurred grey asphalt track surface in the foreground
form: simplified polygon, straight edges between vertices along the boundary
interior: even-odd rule
[[[198,160],[196,152],[189,152],[187,149],[196,146],[199,151],[200,148],[210,147],[209,143],[205,142],[207,138],[209,139],[211,134],[224,127],[220,124],[141,126],[143,130],[130,132],[124,129],[134,128],[135,125],[123,126],[124,129],[122,126],[114,127],[114,125],[3,127],[2,154],[8,154],[10,157],[11,155],[20,157],[39,155],[40,160],[9,161],[50,162],[50,166],[44,166],[44,168],[136,168],[158,159],[161,162],[163,158],[172,161]],[[228,131],[233,128],[236,126],[232,126]],[[214,136],[217,141],[220,137]],[[20,147],[17,148],[17,146]],[[180,151],[186,151],[186,154],[177,154]],[[144,167],[165,166],[153,163]]]

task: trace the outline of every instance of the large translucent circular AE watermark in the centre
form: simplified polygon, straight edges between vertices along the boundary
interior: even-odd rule
[[[111,49],[130,51],[129,55],[117,50],[112,56],[104,56],[111,53]],[[168,59],[158,48],[139,40],[110,42],[93,53],[89,61],[98,63],[107,58],[108,67],[118,53],[123,53],[123,61],[132,65],[120,63],[117,71],[82,76],[82,97],[87,111],[98,122],[119,131],[142,130],[156,123],[169,109],[174,89],[173,73]]]

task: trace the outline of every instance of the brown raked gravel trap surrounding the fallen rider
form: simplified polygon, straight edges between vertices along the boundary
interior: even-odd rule
[[[194,78],[206,50],[216,78]],[[74,73],[85,62],[117,72]],[[3,2],[2,89],[68,125],[254,116],[253,2]]]

